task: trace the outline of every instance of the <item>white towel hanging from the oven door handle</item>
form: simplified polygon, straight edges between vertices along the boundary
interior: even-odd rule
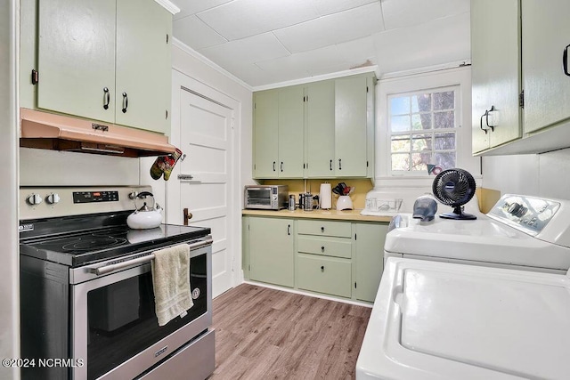
[[[181,244],[154,252],[151,262],[154,303],[159,326],[183,317],[194,303],[190,291],[190,246]]]

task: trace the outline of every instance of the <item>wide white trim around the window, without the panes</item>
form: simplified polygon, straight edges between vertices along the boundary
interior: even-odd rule
[[[480,178],[480,159],[471,153],[471,68],[443,69],[399,77],[381,77],[376,87],[377,173],[375,181],[383,186],[426,186],[434,175],[395,171],[391,166],[391,133],[388,131],[388,97],[396,94],[432,92],[439,88],[459,86],[456,96],[456,161],[455,165]]]

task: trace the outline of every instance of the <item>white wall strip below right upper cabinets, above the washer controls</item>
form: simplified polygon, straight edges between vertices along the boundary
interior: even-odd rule
[[[501,194],[570,199],[570,149],[484,157],[483,186]]]

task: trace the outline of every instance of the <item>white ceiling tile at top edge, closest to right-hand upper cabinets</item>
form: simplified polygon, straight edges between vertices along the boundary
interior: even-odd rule
[[[469,12],[470,0],[383,0],[387,29],[413,27],[442,17]]]

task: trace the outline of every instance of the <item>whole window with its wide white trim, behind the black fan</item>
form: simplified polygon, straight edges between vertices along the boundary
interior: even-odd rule
[[[377,91],[379,187],[428,186],[440,168],[481,172],[471,154],[470,67],[385,75]]]

